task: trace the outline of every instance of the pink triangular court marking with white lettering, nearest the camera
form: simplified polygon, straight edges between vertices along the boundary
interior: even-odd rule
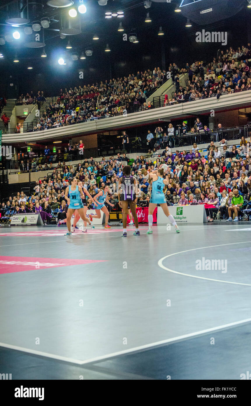
[[[59,266],[86,265],[94,262],[106,262],[106,260],[0,256],[0,274],[9,274],[12,272],[23,272],[35,269],[58,268]]]

